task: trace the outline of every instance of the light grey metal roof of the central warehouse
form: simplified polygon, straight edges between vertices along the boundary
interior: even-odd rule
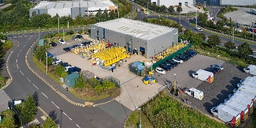
[[[114,19],[108,22],[97,23],[95,25],[123,34],[132,35],[144,40],[153,39],[176,29],[127,18]]]

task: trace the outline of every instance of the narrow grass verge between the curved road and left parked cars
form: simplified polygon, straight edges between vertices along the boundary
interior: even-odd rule
[[[37,60],[34,56],[32,56],[33,62],[35,63],[36,67],[39,68],[42,72],[46,73],[45,66]],[[55,82],[62,85],[63,83],[59,81],[59,77],[55,76],[54,73],[48,72],[47,73],[50,78],[52,78]]]

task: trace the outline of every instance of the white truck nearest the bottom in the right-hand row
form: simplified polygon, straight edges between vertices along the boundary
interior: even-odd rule
[[[234,111],[224,104],[220,104],[210,110],[211,115],[216,116],[225,123],[230,124],[233,127],[238,127],[241,123],[240,113]]]

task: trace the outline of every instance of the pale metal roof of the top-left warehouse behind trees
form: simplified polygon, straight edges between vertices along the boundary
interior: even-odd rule
[[[75,8],[75,7],[109,7],[115,6],[110,0],[94,0],[94,1],[58,1],[46,2],[40,1],[33,9],[62,9],[62,8]]]

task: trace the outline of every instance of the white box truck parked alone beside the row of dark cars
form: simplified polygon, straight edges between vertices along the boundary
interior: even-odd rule
[[[199,69],[197,72],[192,74],[193,78],[211,83],[214,81],[214,73]]]

